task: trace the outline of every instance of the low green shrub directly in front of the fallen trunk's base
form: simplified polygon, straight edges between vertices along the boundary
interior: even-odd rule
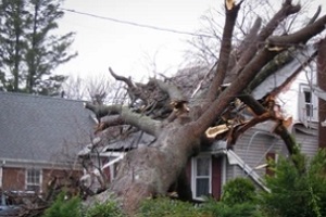
[[[123,217],[125,216],[114,202],[96,204],[87,209],[85,217]]]

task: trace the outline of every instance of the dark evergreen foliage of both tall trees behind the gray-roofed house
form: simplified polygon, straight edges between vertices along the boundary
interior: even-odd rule
[[[61,0],[0,2],[0,88],[5,91],[58,94],[66,79],[53,75],[70,54],[73,33],[58,36]]]

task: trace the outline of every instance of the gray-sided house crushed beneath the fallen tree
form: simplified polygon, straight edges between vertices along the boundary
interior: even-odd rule
[[[291,78],[279,92],[279,105],[292,116],[288,130],[296,137],[301,150],[309,157],[318,150],[318,110],[317,98],[312,93],[306,75],[302,72],[301,64],[310,62],[316,54],[316,48],[310,46],[297,52],[293,61],[279,69],[266,82],[259,86],[253,95],[262,99],[265,93]],[[201,78],[203,79],[203,78]],[[314,84],[316,80],[311,79]],[[310,81],[311,81],[310,80]],[[288,155],[284,141],[273,133],[275,123],[272,120],[261,123],[247,130],[238,138],[231,149],[227,142],[217,140],[213,145],[203,148],[201,153],[188,163],[187,175],[191,183],[195,200],[202,200],[202,195],[212,195],[220,199],[223,186],[236,177],[249,177],[258,188],[268,189],[263,183],[266,174],[272,174],[267,167],[269,158],[277,161],[279,155]],[[138,132],[125,141],[108,144],[106,141],[97,140],[92,144],[104,146],[99,156],[102,161],[98,168],[102,168],[108,179],[115,176],[116,165],[124,157],[126,150],[135,149],[134,144],[148,145],[154,138]],[[106,145],[105,145],[106,144]],[[91,145],[79,152],[79,155],[91,153]]]

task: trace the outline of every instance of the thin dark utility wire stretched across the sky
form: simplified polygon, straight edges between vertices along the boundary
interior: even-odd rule
[[[176,30],[176,29],[158,27],[158,26],[152,26],[152,25],[147,25],[147,24],[139,24],[139,23],[135,23],[135,22],[130,22],[130,21],[122,21],[122,20],[112,18],[112,17],[108,17],[108,16],[100,16],[100,15],[90,14],[90,13],[86,13],[86,12],[75,11],[75,10],[72,10],[72,9],[60,8],[60,10],[67,11],[67,12],[71,12],[71,13],[75,13],[75,14],[79,14],[79,15],[91,16],[93,18],[101,18],[101,20],[110,21],[110,22],[114,22],[114,23],[141,27],[141,28],[150,28],[150,29],[153,29],[153,30],[168,31],[168,33],[173,33],[173,34],[181,34],[181,35],[188,35],[188,36],[196,36],[196,37],[213,38],[213,36],[205,35],[205,34],[193,34],[193,33],[190,33],[190,31]]]

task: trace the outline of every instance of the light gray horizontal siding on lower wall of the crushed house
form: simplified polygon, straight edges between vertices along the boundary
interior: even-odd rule
[[[255,169],[255,167],[266,164],[267,156],[274,156],[274,158],[277,159],[278,155],[288,155],[284,141],[273,135],[271,132],[272,129],[273,125],[268,123],[263,126],[258,125],[246,131],[233,148],[234,152],[261,178],[264,178],[268,170],[265,167],[259,169]],[[302,153],[306,154],[309,157],[316,154],[318,149],[318,136],[316,129],[306,128],[303,125],[300,125],[300,127],[294,125],[292,133],[296,141],[300,144]],[[244,173],[240,166],[230,165],[229,162],[227,162],[225,180],[228,181],[236,177],[248,177],[248,173]]]

